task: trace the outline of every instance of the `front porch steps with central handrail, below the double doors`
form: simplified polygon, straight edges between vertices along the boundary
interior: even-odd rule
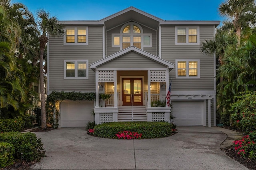
[[[132,114],[133,109],[133,114]],[[119,106],[118,121],[147,121],[145,106]]]

